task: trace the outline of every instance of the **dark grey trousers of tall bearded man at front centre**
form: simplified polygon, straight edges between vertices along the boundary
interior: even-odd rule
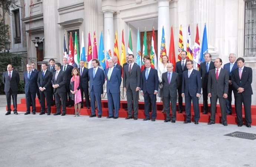
[[[134,110],[133,117],[138,117],[139,91],[131,90],[130,86],[128,86],[126,88],[126,97],[127,97],[128,117],[132,117],[132,105]]]

